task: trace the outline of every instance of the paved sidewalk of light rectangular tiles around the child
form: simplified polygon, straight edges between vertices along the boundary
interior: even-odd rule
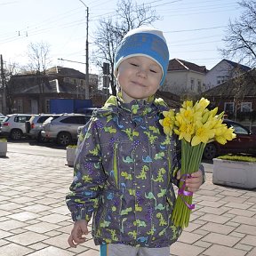
[[[0,256],[99,255],[92,236],[68,247],[73,225],[64,199],[73,169],[66,164],[63,157],[12,152],[0,158]],[[172,255],[255,256],[256,189],[216,186],[211,170],[206,176]]]

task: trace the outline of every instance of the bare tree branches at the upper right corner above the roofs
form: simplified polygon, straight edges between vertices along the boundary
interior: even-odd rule
[[[251,67],[256,65],[256,1],[242,0],[238,2],[243,12],[241,16],[229,20],[225,48],[220,49],[225,58],[236,59]]]

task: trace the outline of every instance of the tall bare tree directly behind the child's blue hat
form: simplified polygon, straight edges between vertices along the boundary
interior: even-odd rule
[[[115,19],[113,18],[115,16]],[[136,4],[132,0],[121,0],[117,3],[116,15],[108,19],[100,19],[100,25],[95,34],[97,50],[93,52],[94,62],[102,67],[103,62],[110,66],[110,85],[112,94],[116,95],[116,80],[114,77],[114,60],[117,45],[124,35],[132,28],[152,24],[160,16],[151,9],[150,5]]]

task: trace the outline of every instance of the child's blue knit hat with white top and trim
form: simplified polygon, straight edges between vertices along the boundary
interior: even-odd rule
[[[156,28],[134,28],[121,41],[116,50],[114,74],[123,60],[134,56],[146,56],[162,68],[163,76],[160,85],[164,84],[169,64],[169,51],[163,32]]]

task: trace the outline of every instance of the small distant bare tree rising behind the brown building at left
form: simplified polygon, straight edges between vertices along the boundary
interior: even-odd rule
[[[28,68],[32,73],[45,75],[51,60],[49,59],[50,44],[45,42],[28,44]]]

